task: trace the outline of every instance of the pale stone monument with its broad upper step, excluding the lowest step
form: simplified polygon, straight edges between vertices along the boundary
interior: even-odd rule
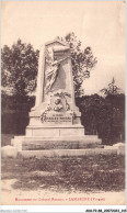
[[[35,107],[30,112],[25,136],[15,136],[12,144],[19,150],[100,145],[96,135],[84,135],[80,117],[74,102],[70,48],[56,38],[41,47]]]

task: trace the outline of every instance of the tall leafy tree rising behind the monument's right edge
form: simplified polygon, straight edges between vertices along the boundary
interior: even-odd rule
[[[65,40],[69,44],[71,49],[74,93],[76,93],[76,97],[80,97],[84,93],[82,90],[82,83],[86,78],[90,77],[90,72],[94,68],[97,60],[93,56],[93,53],[90,46],[85,47],[82,51],[81,42],[78,41],[74,33],[69,33],[65,37]]]

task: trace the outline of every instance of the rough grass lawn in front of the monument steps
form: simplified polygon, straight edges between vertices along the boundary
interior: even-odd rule
[[[53,191],[122,191],[125,189],[125,158],[93,156],[68,158],[22,158],[1,160],[1,179],[16,179],[13,189]]]

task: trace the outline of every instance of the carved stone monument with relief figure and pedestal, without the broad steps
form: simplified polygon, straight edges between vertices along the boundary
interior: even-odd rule
[[[74,103],[70,48],[55,40],[41,48],[35,107],[27,136],[84,135]]]

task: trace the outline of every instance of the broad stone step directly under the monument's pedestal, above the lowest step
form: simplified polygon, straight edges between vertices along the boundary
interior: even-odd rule
[[[48,150],[48,149],[86,149],[103,148],[102,141],[96,135],[83,137],[27,137],[15,136],[11,144],[18,150]]]

